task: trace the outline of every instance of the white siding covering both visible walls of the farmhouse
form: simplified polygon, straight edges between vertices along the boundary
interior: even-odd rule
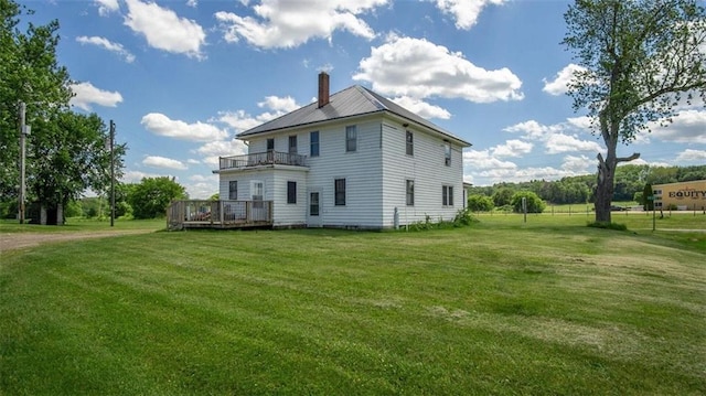
[[[345,151],[345,127],[357,128],[357,147]],[[414,156],[406,154],[406,130],[414,133]],[[310,132],[319,131],[319,157],[310,157]],[[307,156],[308,171],[268,168],[221,174],[220,193],[228,196],[228,181],[238,180],[238,197],[250,200],[250,181],[265,182],[265,200],[275,201],[275,225],[307,222],[308,192],[320,191],[321,225],[335,227],[391,228],[395,207],[399,224],[452,220],[463,208],[462,148],[451,143],[451,165],[445,164],[443,139],[389,117],[373,115],[351,122],[301,128],[270,135],[275,150],[289,150],[289,136],[297,135],[298,153]],[[264,152],[267,137],[249,141],[249,152]],[[383,154],[384,152],[384,154]],[[345,179],[344,206],[334,204],[334,181]],[[406,205],[406,180],[415,181],[415,204]],[[297,182],[297,204],[287,204],[287,182]],[[453,186],[453,206],[443,206],[442,186]]]

